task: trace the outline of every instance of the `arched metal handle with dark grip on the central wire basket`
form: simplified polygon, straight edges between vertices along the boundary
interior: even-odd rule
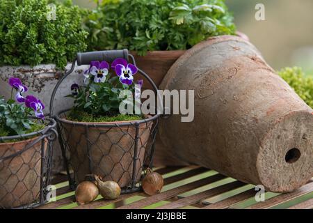
[[[117,49],[117,50],[104,50],[104,51],[96,51],[96,52],[85,52],[85,53],[77,53],[77,58],[74,59],[72,62],[72,67],[69,71],[65,72],[65,75],[61,77],[61,79],[58,81],[56,86],[54,87],[54,91],[52,91],[51,100],[50,100],[50,107],[49,107],[49,114],[51,117],[54,117],[54,99],[56,98],[56,92],[58,91],[59,86],[64,81],[64,79],[70,75],[75,68],[75,64],[77,63],[78,66],[81,65],[89,65],[91,61],[107,61],[109,63],[113,62],[115,59],[123,58],[129,61],[129,57],[131,58],[132,62],[136,66],[136,61],[134,59],[134,56],[129,54],[128,49]],[[138,68],[138,72],[145,77],[148,82],[152,85],[154,88],[154,91],[157,93],[159,102],[161,102],[161,105],[159,109],[157,110],[158,114],[161,110],[163,112],[163,100],[161,98],[161,95],[158,91],[157,85],[154,83],[154,81],[147,75],[143,70]]]

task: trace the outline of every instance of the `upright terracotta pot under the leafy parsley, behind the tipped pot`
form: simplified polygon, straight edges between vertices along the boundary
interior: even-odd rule
[[[145,56],[138,56],[136,52],[131,52],[136,60],[136,65],[149,75],[155,84],[159,86],[170,67],[182,56],[186,50],[170,51],[152,51],[147,52]],[[134,76],[135,79],[141,79],[140,75]],[[144,89],[152,89],[149,82],[144,82]]]

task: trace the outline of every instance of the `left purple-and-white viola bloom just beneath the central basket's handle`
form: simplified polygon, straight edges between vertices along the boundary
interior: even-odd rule
[[[90,68],[83,74],[85,84],[88,84],[90,75],[94,76],[95,83],[103,83],[106,81],[106,75],[109,74],[109,63],[106,61],[91,61]]]

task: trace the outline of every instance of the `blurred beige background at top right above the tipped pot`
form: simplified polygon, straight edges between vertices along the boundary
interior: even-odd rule
[[[73,0],[86,8],[93,0]],[[275,70],[301,66],[313,75],[313,1],[312,0],[226,0],[234,13],[239,31],[262,52]],[[265,6],[265,21],[255,20],[255,6]]]

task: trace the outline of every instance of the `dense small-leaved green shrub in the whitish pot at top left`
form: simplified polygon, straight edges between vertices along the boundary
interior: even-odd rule
[[[56,6],[55,20],[50,3]],[[64,68],[86,50],[88,33],[81,27],[83,11],[71,1],[0,1],[0,63],[12,66],[55,63]]]

